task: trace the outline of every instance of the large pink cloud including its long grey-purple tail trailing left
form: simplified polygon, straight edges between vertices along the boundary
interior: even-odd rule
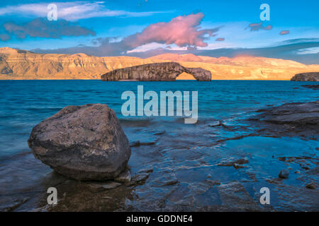
[[[154,23],[149,25],[142,32],[124,37],[119,42],[114,42],[113,37],[99,38],[94,40],[94,44],[100,44],[98,47],[72,47],[65,49],[44,50],[44,52],[57,53],[77,53],[94,54],[97,56],[118,56],[126,52],[132,52],[133,49],[151,43],[176,44],[179,47],[206,47],[205,40],[215,36],[219,28],[201,29],[199,26],[203,19],[203,13],[190,14],[188,16],[178,16],[165,23]],[[43,50],[36,49],[37,52]]]

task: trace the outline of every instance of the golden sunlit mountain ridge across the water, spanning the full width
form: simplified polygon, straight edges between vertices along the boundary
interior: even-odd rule
[[[36,54],[26,50],[0,48],[0,79],[100,79],[114,69],[176,61],[189,68],[211,71],[212,79],[290,80],[296,73],[319,71],[319,65],[266,57],[203,57],[194,54],[160,54],[138,57],[94,57],[86,54]],[[194,79],[189,74],[183,79]]]

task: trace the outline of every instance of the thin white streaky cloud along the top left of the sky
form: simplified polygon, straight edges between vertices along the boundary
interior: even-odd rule
[[[123,16],[123,17],[142,17],[152,16],[157,13],[167,13],[167,11],[147,11],[147,12],[130,12],[111,10],[104,6],[103,1],[73,1],[73,2],[57,2],[57,16],[69,21],[98,18],[108,16]],[[33,16],[46,17],[48,3],[36,4],[21,4],[18,6],[5,6],[0,8],[0,16],[18,15],[18,16]]]

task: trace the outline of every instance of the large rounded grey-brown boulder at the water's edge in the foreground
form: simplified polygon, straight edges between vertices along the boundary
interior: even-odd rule
[[[63,108],[33,128],[28,145],[43,163],[80,181],[113,179],[130,158],[116,114],[100,104]]]

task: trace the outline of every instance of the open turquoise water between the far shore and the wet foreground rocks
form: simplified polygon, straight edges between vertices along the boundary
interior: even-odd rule
[[[267,105],[318,100],[318,91],[290,81],[102,82],[0,81],[0,157],[28,150],[30,131],[67,105],[102,103],[123,118],[121,94],[155,90],[198,91],[198,120],[229,119]],[[306,83],[310,84],[310,83]],[[160,117],[157,118],[160,120]]]

